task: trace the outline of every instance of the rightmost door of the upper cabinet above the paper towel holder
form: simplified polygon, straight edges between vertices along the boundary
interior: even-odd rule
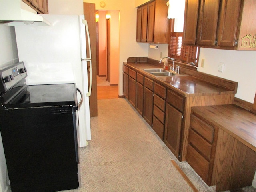
[[[148,32],[147,42],[154,40],[154,24],[155,24],[155,2],[148,4]]]

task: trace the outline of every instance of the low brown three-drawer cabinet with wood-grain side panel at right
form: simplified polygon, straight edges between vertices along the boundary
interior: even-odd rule
[[[250,186],[256,169],[256,153],[232,137],[193,107],[186,161],[216,191]]]

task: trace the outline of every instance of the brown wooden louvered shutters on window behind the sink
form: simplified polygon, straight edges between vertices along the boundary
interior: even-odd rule
[[[168,56],[182,63],[193,62],[198,66],[199,47],[182,46],[183,32],[171,32]]]

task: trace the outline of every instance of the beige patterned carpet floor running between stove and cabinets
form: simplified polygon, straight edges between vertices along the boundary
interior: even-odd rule
[[[124,98],[98,100],[91,130],[92,140],[80,148],[82,186],[65,192],[192,192],[172,160],[198,191],[215,191],[186,162],[178,162]]]

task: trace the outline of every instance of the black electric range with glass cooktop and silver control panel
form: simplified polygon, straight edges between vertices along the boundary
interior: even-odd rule
[[[76,84],[27,85],[23,62],[0,70],[0,131],[12,192],[79,187]],[[80,91],[79,91],[80,92]]]

